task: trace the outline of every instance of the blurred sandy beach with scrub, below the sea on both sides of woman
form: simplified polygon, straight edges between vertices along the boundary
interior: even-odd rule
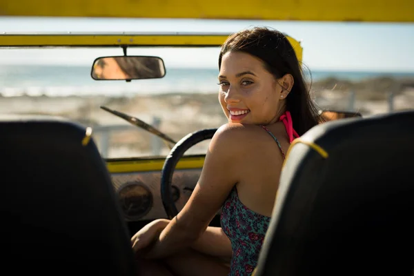
[[[327,78],[315,81],[311,97],[319,108],[353,110],[363,116],[389,110],[414,108],[414,78],[377,77],[362,81]],[[391,104],[392,99],[392,104]],[[3,114],[52,115],[66,117],[94,129],[94,139],[103,157],[166,155],[168,147],[154,135],[131,126],[100,106],[137,117],[178,141],[190,132],[218,128],[226,123],[217,92],[166,93],[157,95],[70,95],[51,97],[19,95],[0,97]],[[208,141],[188,153],[205,153]]]

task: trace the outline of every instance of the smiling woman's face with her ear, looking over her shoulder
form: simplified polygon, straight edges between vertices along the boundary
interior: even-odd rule
[[[262,60],[244,52],[227,52],[221,59],[219,101],[229,122],[268,125],[279,120],[290,91],[275,79]],[[291,78],[293,85],[293,78]],[[282,85],[286,90],[282,90]]]

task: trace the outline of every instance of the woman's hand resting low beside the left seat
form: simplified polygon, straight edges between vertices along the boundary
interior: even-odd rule
[[[159,234],[166,228],[169,222],[170,220],[168,219],[156,219],[141,228],[131,238],[132,250],[137,253],[141,250],[149,249],[148,247],[157,240]]]

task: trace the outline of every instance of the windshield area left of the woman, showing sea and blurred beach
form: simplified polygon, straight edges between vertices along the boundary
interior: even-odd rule
[[[100,107],[137,117],[175,141],[217,128],[226,123],[217,101],[217,61],[199,57],[217,57],[219,48],[128,48],[128,55],[155,52],[164,59],[166,76],[126,82],[90,77],[95,58],[123,55],[121,48],[0,48],[1,112],[66,117],[91,126],[105,158],[166,156],[169,148],[159,137]],[[193,63],[181,64],[184,52]],[[207,145],[186,154],[204,154]]]

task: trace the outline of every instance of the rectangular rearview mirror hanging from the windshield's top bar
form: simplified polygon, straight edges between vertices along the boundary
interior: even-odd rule
[[[98,57],[90,75],[95,80],[159,79],[166,75],[166,69],[160,57]]]

